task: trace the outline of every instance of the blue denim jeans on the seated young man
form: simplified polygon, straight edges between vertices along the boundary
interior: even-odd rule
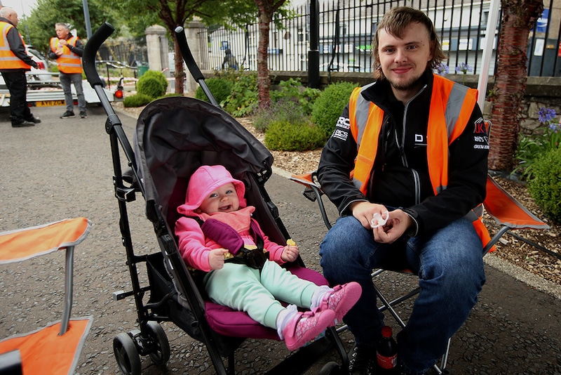
[[[485,283],[481,240],[466,218],[429,235],[380,244],[356,218],[344,216],[327,232],[320,256],[331,285],[356,281],[363,287],[344,317],[359,344],[374,344],[384,325],[372,270],[400,267],[419,275],[421,291],[407,327],[398,334],[400,360],[412,371],[432,367],[445,353],[448,338],[464,324]]]

